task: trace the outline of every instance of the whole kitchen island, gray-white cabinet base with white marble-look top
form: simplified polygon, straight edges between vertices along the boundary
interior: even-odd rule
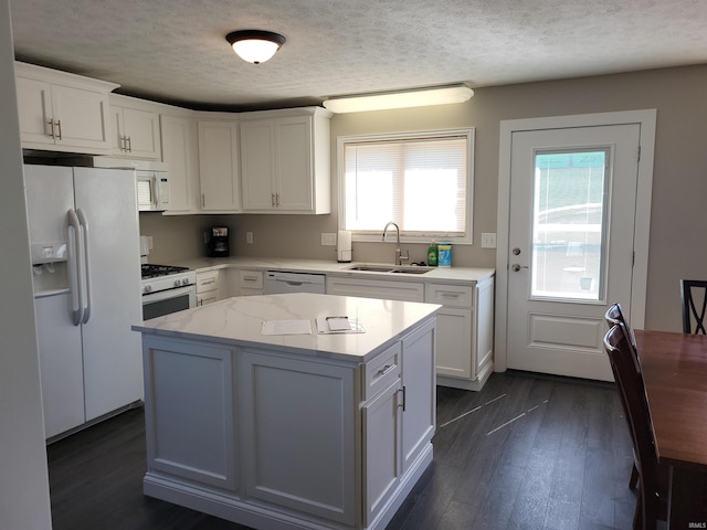
[[[134,326],[145,494],[256,529],[383,529],[432,462],[440,309],[286,294]],[[336,316],[362,332],[318,332]]]

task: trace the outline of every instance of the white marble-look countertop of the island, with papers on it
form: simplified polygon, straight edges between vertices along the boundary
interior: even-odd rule
[[[350,296],[292,293],[234,297],[186,309],[133,326],[166,338],[186,338],[233,346],[276,348],[283,352],[367,362],[381,346],[400,338],[442,306]],[[316,318],[356,318],[362,333],[319,335]],[[310,321],[310,335],[262,335],[264,320]]]

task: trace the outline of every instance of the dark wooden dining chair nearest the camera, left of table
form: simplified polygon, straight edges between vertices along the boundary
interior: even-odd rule
[[[639,498],[633,529],[655,530],[658,520],[667,520],[667,483],[663,477],[664,466],[658,466],[641,362],[625,324],[612,326],[604,336],[604,348],[626,411],[634,463],[639,471]]]

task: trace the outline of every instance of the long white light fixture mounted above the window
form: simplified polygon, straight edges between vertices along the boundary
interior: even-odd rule
[[[391,108],[425,107],[429,105],[446,105],[464,103],[474,95],[468,86],[454,85],[416,91],[389,92],[346,96],[327,99],[323,105],[333,113],[360,113],[363,110],[384,110]]]

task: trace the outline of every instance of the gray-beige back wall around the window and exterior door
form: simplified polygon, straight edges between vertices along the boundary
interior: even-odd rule
[[[340,135],[397,130],[476,127],[474,182],[474,241],[454,247],[454,265],[494,266],[495,252],[479,247],[482,232],[496,231],[498,134],[504,119],[657,108],[655,173],[651,216],[646,327],[680,330],[678,282],[707,278],[707,246],[703,244],[701,213],[707,199],[707,65],[664,68],[576,80],[478,88],[466,104],[411,110],[337,115],[331,120],[331,150]],[[249,256],[335,259],[331,247],[320,246],[321,232],[337,230],[336,157],[333,156],[334,213],[320,216],[225,215],[197,216],[193,231],[224,223],[233,232],[234,253]],[[170,219],[157,219],[150,229],[169,231]],[[245,232],[254,244],[245,244]],[[156,243],[159,244],[159,241]],[[424,245],[408,245],[411,257],[422,259]],[[201,252],[191,246],[163,248]],[[354,243],[357,261],[392,259],[392,246]]]

